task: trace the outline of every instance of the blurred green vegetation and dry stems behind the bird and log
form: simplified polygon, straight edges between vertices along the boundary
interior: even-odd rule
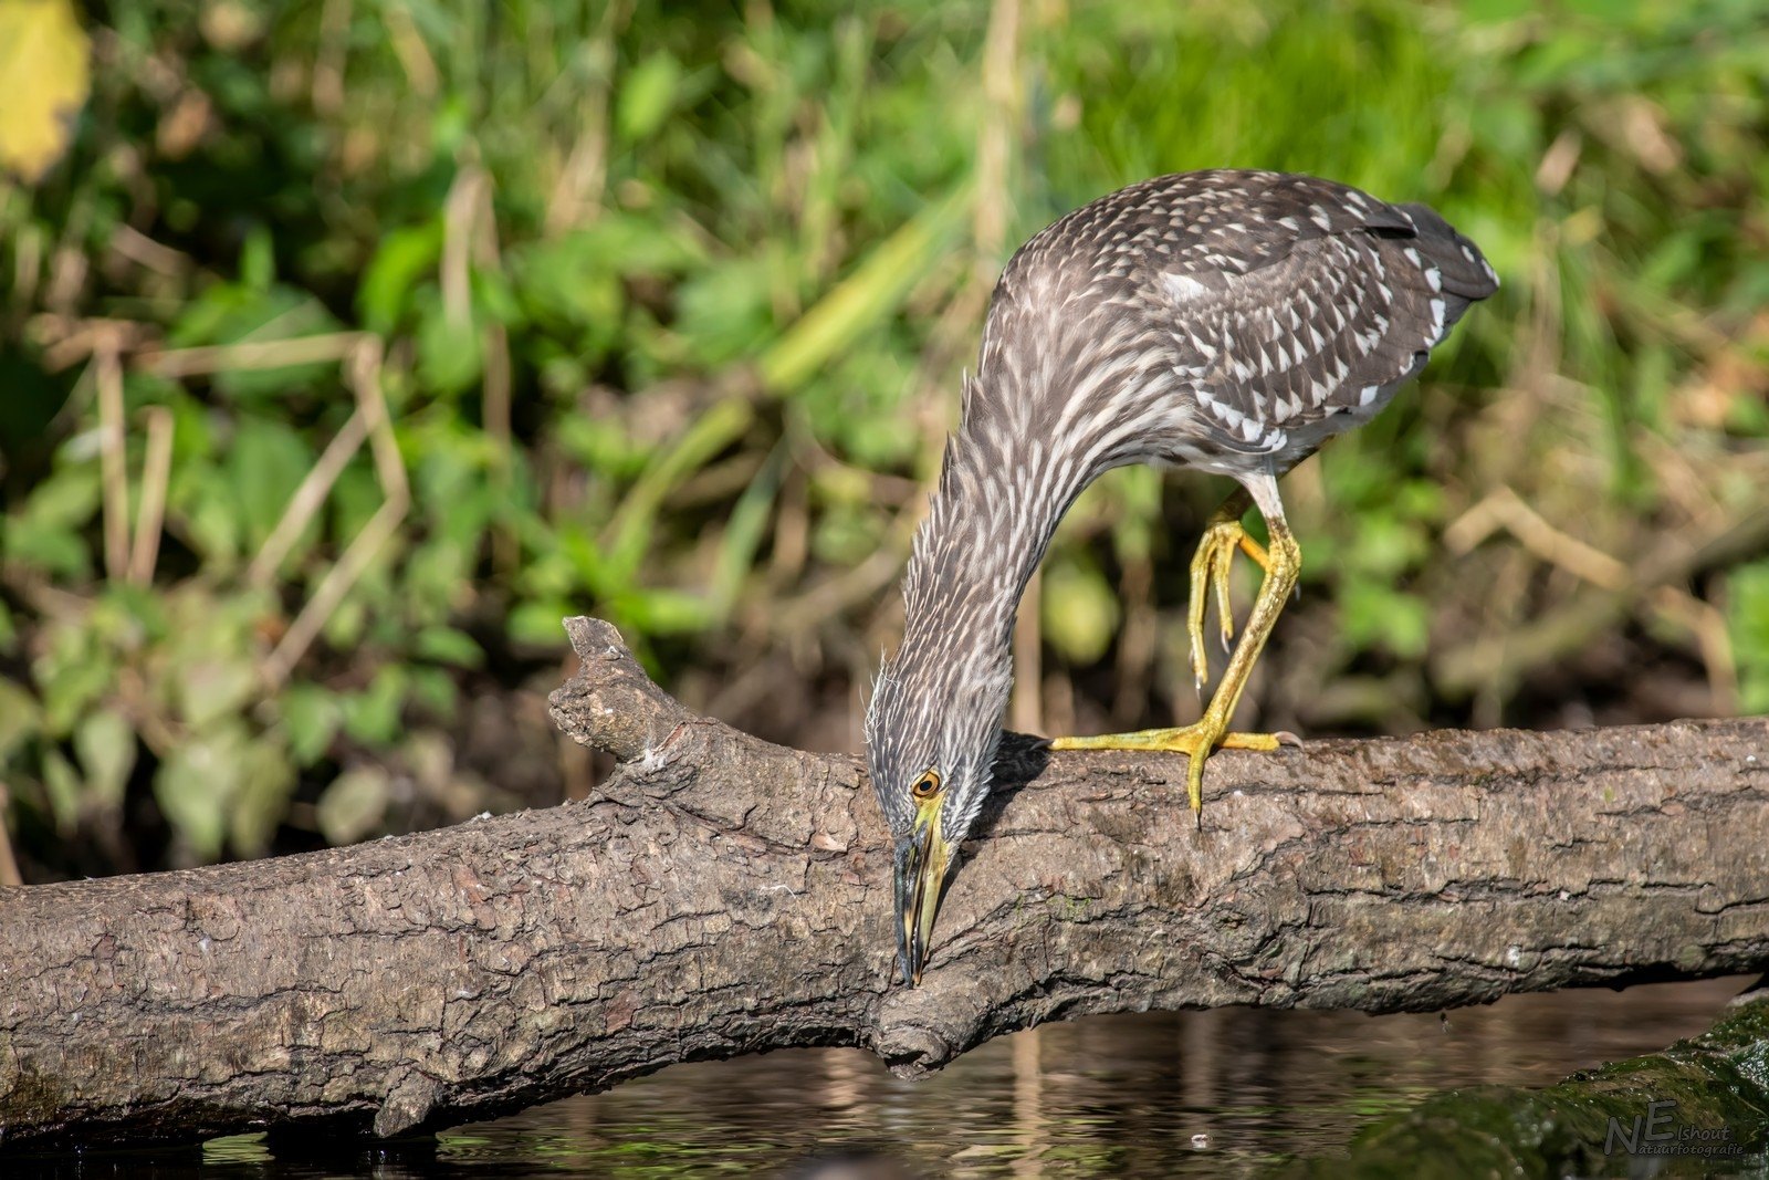
[[[85,23],[65,157],[0,179],[0,810],[28,877],[582,794],[541,704],[568,614],[699,708],[858,745],[999,265],[1219,165],[1431,202],[1505,281],[1288,481],[1307,586],[1265,724],[1769,709],[1755,0]],[[1017,718],[1196,708],[1176,619],[1221,494],[1139,469],[1083,499]]]

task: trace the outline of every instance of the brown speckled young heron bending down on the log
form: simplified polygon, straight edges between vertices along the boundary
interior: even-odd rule
[[[1279,476],[1376,416],[1495,290],[1481,249],[1429,207],[1284,172],[1141,180],[1014,253],[911,547],[902,642],[867,702],[867,770],[893,844],[906,985],[922,982],[959,846],[989,794],[1021,594],[1083,488],[1130,464],[1238,485],[1191,561],[1199,693],[1208,596],[1228,647],[1237,554],[1263,579],[1199,720],[1051,741],[1185,754],[1201,826],[1210,752],[1279,745],[1277,734],[1229,731],[1302,563]],[[1267,545],[1242,524],[1254,506]]]

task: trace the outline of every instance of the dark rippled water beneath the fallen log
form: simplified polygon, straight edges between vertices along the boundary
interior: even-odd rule
[[[262,1136],[65,1176],[1233,1176],[1332,1155],[1456,1086],[1541,1086],[1704,1031],[1746,980],[1509,996],[1438,1015],[1229,1008],[1049,1024],[920,1083],[865,1053],[678,1065],[610,1093],[336,1157]],[[842,1153],[867,1162],[837,1168]],[[823,1162],[817,1162],[823,1161]],[[846,1169],[844,1169],[846,1168]],[[23,1175],[23,1173],[21,1173]]]

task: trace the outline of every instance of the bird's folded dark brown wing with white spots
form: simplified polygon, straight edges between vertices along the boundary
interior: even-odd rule
[[[1189,232],[1145,234],[1141,262],[1182,357],[1175,377],[1215,441],[1268,453],[1298,428],[1373,414],[1498,281],[1424,205],[1254,175],[1205,209],[1189,193],[1175,207]]]

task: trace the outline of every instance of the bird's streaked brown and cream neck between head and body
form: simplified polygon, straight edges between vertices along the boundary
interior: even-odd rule
[[[1021,594],[1086,487],[1049,439],[985,437],[962,426],[904,579],[904,649],[1007,656]],[[971,653],[953,647],[966,646]]]

